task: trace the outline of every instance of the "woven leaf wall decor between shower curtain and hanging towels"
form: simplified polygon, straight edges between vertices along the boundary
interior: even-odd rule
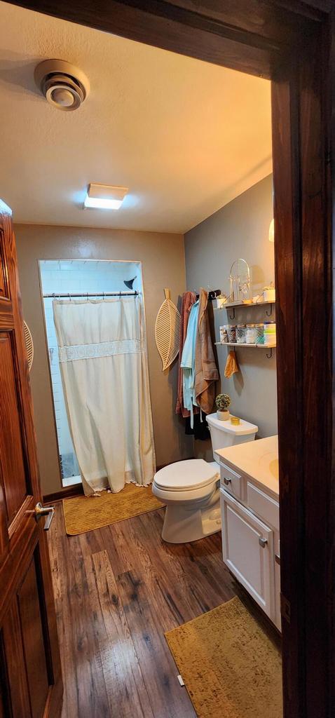
[[[172,364],[179,352],[180,328],[180,314],[176,304],[170,299],[170,289],[164,289],[164,293],[165,299],[159,309],[155,324],[156,347],[163,364],[162,371]]]

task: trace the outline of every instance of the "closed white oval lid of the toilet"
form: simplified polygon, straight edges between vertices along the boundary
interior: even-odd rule
[[[161,489],[186,491],[212,483],[217,474],[212,464],[207,464],[203,459],[190,459],[164,466],[156,473],[154,482]]]

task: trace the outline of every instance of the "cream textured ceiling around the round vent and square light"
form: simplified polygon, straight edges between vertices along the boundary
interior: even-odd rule
[[[90,79],[75,112],[34,87],[52,57]],[[271,172],[270,83],[0,2],[0,150],[16,222],[184,233]],[[121,210],[82,210],[89,182]]]

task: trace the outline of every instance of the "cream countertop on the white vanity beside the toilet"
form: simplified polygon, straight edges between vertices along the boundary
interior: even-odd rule
[[[217,449],[220,459],[237,473],[245,474],[260,488],[278,500],[278,435],[254,442],[236,444],[227,449]]]

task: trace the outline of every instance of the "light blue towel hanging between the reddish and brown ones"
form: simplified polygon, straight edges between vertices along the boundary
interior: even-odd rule
[[[197,325],[199,314],[199,301],[193,304],[189,313],[189,324],[181,357],[181,369],[183,371],[183,396],[184,407],[191,413],[191,425],[193,426],[193,407],[197,406],[194,394],[194,368],[195,368],[195,345],[197,340]]]

